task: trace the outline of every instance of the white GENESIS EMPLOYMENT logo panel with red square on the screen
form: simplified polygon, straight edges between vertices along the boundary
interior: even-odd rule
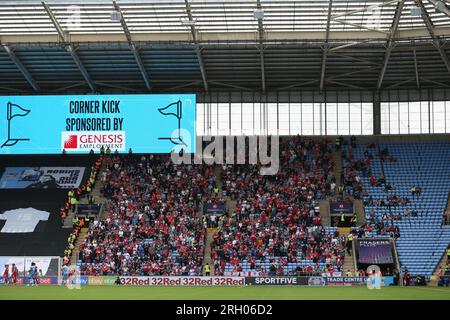
[[[102,146],[112,152],[125,151],[125,131],[61,132],[61,150],[98,151]]]

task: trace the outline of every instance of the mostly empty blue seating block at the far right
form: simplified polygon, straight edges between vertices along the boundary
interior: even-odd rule
[[[450,187],[449,147],[448,142],[431,142],[346,148],[356,162],[370,164],[368,170],[356,166],[366,191],[366,217],[399,231],[400,262],[411,275],[430,276],[450,242],[450,229],[442,227]],[[346,159],[347,173],[355,161]],[[421,191],[414,192],[415,187]],[[384,233],[382,227],[370,236]]]

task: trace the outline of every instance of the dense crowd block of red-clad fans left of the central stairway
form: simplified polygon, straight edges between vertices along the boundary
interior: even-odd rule
[[[108,217],[80,247],[86,275],[200,275],[206,228],[197,217],[213,192],[212,167],[174,165],[167,155],[105,158]]]

